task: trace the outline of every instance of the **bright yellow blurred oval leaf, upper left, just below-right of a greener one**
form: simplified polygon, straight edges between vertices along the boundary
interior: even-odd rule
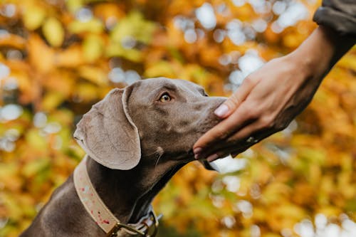
[[[51,17],[42,26],[43,35],[51,46],[59,47],[64,40],[64,29],[58,19]]]

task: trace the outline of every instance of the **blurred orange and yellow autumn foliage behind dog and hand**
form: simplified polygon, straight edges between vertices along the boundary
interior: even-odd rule
[[[0,236],[73,172],[75,123],[111,88],[164,76],[228,96],[300,45],[320,4],[1,0]],[[179,171],[155,199],[159,236],[356,236],[355,79],[354,47],[286,130],[219,160],[221,174]]]

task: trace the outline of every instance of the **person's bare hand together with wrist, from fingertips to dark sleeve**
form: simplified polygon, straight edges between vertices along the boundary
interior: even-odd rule
[[[287,56],[269,61],[248,75],[216,111],[222,120],[194,144],[196,159],[214,161],[244,152],[283,130],[310,102],[333,65],[355,38],[319,26]]]

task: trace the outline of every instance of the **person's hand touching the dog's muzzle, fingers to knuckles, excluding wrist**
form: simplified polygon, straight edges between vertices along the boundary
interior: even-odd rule
[[[215,111],[224,120],[194,144],[196,158],[211,162],[231,153],[239,154],[286,128],[308,105],[320,84],[320,80],[310,80],[308,73],[300,69],[295,58],[285,56],[248,75]]]

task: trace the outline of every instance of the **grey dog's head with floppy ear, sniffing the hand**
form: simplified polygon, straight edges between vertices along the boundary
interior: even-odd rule
[[[194,142],[219,122],[213,112],[224,100],[185,80],[140,80],[93,105],[74,137],[110,169],[132,169],[155,152],[192,159]]]

